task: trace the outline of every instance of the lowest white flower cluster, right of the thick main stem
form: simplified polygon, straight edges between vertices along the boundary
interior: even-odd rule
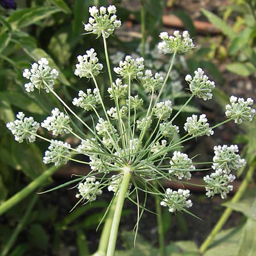
[[[190,191],[188,189],[178,189],[178,191],[172,191],[172,189],[167,188],[164,199],[160,204],[163,207],[168,207],[169,212],[184,210],[184,208],[192,207],[192,201],[187,200],[189,196]]]

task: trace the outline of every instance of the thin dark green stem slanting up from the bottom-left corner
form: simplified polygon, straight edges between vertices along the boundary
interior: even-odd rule
[[[18,224],[18,226],[16,226],[14,232],[11,234],[11,237],[10,237],[9,241],[6,243],[6,246],[3,248],[1,256],[6,256],[9,253],[11,247],[14,245],[14,243],[16,241],[16,238],[19,236],[19,233],[24,228],[24,225],[26,224],[28,216],[30,216],[31,210],[34,207],[34,205],[36,203],[36,200],[38,200],[38,195],[34,195],[32,197],[32,200],[28,204],[28,207],[27,207],[27,210],[26,210],[25,214],[23,215],[23,217],[19,221],[19,224]]]

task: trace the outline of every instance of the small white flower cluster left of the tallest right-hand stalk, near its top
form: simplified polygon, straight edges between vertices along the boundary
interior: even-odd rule
[[[153,76],[151,70],[146,70],[145,76],[142,77],[141,82],[146,92],[155,93],[162,88],[163,77],[160,76],[159,73],[155,73],[155,76]]]

